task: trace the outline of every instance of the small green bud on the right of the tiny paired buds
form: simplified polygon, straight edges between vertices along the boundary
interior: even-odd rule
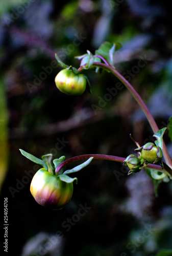
[[[141,150],[141,157],[148,163],[156,163],[162,160],[162,150],[159,146],[155,146],[154,143],[148,142],[138,150]]]

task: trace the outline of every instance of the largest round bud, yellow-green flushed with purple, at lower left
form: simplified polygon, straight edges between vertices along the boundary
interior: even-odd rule
[[[73,183],[61,181],[58,176],[41,168],[34,175],[30,190],[38,204],[57,210],[70,201]]]

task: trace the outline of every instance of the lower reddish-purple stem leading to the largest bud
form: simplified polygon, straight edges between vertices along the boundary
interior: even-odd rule
[[[120,163],[124,162],[124,160],[126,159],[124,157],[101,155],[101,154],[80,155],[80,156],[69,158],[69,159],[65,160],[64,162],[62,162],[61,164],[59,164],[59,166],[57,166],[57,168],[56,168],[56,175],[67,164],[72,163],[72,162],[76,162],[76,161],[79,161],[79,160],[89,159],[90,157],[93,157],[93,159],[109,160],[109,161],[115,161],[115,162],[120,162]],[[157,164],[149,164],[148,168],[157,169],[160,172],[165,172],[166,171],[170,176],[172,176],[172,170],[165,163],[164,163],[164,169],[162,169],[161,166],[157,165]]]

